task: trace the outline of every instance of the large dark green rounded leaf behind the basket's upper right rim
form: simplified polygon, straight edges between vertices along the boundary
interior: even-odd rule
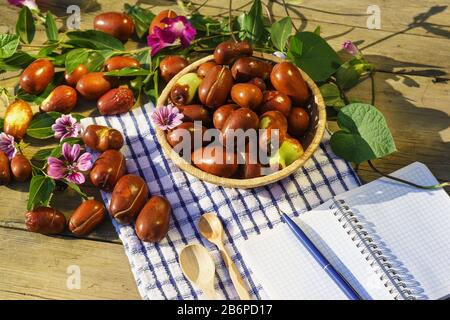
[[[295,40],[294,40],[295,39]],[[301,52],[292,41],[302,42]],[[341,66],[341,60],[330,45],[313,32],[298,32],[291,40],[288,57],[314,81],[326,81]]]

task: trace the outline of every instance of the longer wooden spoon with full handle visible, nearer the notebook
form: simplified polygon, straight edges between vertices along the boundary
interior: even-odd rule
[[[198,228],[205,239],[211,243],[214,243],[219,248],[239,298],[241,298],[241,300],[250,300],[251,297],[248,293],[245,282],[233,260],[231,260],[231,256],[226,250],[225,245],[223,244],[224,230],[219,217],[217,217],[214,213],[205,213],[200,217]]]

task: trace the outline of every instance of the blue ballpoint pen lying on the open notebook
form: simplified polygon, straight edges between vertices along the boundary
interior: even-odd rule
[[[279,212],[280,213],[280,212]],[[361,300],[360,295],[352,288],[345,278],[328,262],[317,247],[309,240],[303,230],[283,212],[280,213],[282,219],[288,224],[298,240],[305,246],[311,255],[320,264],[323,270],[333,279],[336,285],[345,293],[350,300]]]

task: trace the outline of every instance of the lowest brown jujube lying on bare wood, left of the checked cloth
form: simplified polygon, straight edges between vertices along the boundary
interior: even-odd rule
[[[83,236],[95,229],[105,217],[105,206],[98,200],[86,200],[75,210],[69,220],[69,230]]]

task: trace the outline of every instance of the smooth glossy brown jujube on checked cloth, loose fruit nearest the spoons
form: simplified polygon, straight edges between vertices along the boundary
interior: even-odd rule
[[[153,196],[147,201],[136,219],[136,234],[142,241],[159,242],[169,231],[172,208],[169,201]]]

